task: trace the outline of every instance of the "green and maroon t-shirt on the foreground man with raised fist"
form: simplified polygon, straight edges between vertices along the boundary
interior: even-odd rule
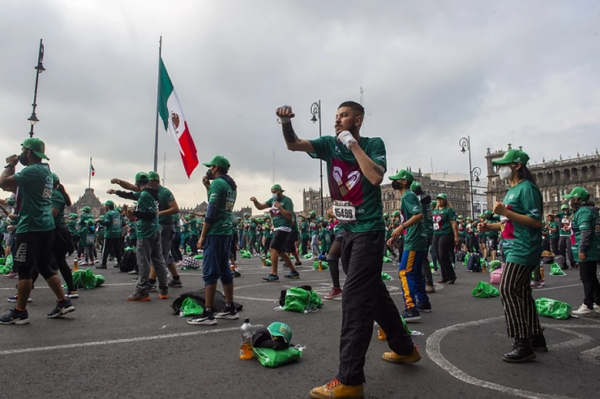
[[[310,140],[317,158],[327,162],[329,192],[334,201],[348,203],[355,208],[355,223],[345,227],[353,233],[384,231],[381,186],[374,186],[364,176],[350,151],[336,137],[324,136]],[[379,137],[361,137],[358,143],[365,154],[387,170],[385,144]]]

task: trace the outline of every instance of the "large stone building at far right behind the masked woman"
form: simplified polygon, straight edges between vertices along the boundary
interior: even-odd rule
[[[508,149],[511,149],[508,145]],[[521,148],[521,147],[519,147]],[[488,172],[488,203],[490,206],[496,201],[502,201],[508,190],[508,183],[498,178],[497,167],[492,166],[492,160],[501,158],[504,150],[486,153]],[[593,200],[600,199],[600,154],[596,150],[592,155],[577,154],[575,158],[559,159],[528,165],[536,184],[542,192],[544,200],[544,213],[557,213],[560,206],[566,201],[563,195],[571,192],[573,187],[585,187]]]

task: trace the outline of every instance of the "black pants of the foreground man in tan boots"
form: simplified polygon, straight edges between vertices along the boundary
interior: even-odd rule
[[[414,344],[402,326],[400,313],[381,280],[385,232],[346,232],[341,262],[346,273],[342,296],[340,368],[337,378],[346,385],[365,382],[363,367],[373,321],[385,334],[390,348],[399,355],[412,352]]]

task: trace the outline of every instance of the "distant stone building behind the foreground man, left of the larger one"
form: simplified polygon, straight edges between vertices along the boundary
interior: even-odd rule
[[[431,195],[435,199],[439,193],[446,193],[448,201],[455,212],[465,217],[471,214],[470,206],[470,191],[468,180],[448,181],[444,179],[432,178],[430,174],[413,172],[415,179],[421,183],[423,190]],[[388,180],[389,181],[389,180]],[[303,209],[304,213],[308,213],[311,210],[317,211],[317,214],[321,210],[321,193],[318,189],[305,189],[302,192],[303,195]],[[391,183],[381,185],[381,196],[383,198],[383,212],[392,213],[395,210],[400,209],[400,198],[396,198],[396,194],[392,189]],[[331,198],[325,196],[323,198],[325,210],[331,206]]]

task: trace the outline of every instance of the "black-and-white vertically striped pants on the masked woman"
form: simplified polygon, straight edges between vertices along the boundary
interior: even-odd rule
[[[531,295],[531,272],[537,266],[507,263],[502,271],[500,299],[504,305],[508,336],[511,338],[526,339],[542,332]]]

